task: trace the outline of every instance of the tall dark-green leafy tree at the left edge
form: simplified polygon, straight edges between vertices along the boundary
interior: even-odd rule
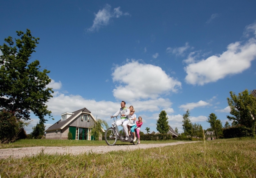
[[[52,88],[46,88],[51,81],[47,75],[50,71],[41,71],[38,60],[29,63],[39,38],[28,29],[25,34],[16,32],[16,46],[10,36],[4,39],[8,45],[0,46],[0,108],[12,112],[17,120],[29,120],[32,111],[42,124],[47,121],[44,116],[51,116],[45,105],[53,93]]]

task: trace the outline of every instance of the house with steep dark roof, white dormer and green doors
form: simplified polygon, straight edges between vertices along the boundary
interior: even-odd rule
[[[68,132],[72,133],[73,140],[93,140],[90,134],[90,126],[96,119],[92,113],[82,108],[74,112],[60,114],[61,119],[45,130],[46,139],[68,139]]]

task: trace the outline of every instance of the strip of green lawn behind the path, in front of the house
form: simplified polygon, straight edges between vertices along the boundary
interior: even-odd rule
[[[167,141],[141,141],[141,144],[156,144],[156,143],[170,143],[178,142],[179,140]],[[116,145],[131,144],[130,142],[117,141]],[[103,141],[90,141],[90,140],[48,140],[48,139],[22,139],[10,144],[0,144],[0,149],[3,148],[22,148],[33,146],[106,146],[105,140]]]

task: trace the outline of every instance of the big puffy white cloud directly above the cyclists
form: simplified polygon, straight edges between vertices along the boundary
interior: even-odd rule
[[[181,88],[181,82],[168,76],[162,68],[138,61],[116,67],[112,76],[113,81],[119,83],[113,94],[120,100],[156,99],[160,94]]]

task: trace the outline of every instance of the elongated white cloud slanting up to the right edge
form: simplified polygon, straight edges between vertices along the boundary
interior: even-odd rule
[[[220,55],[210,56],[206,60],[193,62],[184,68],[188,84],[204,85],[216,82],[231,74],[238,74],[251,66],[256,57],[256,39],[251,38],[245,44],[235,42],[228,45]]]

